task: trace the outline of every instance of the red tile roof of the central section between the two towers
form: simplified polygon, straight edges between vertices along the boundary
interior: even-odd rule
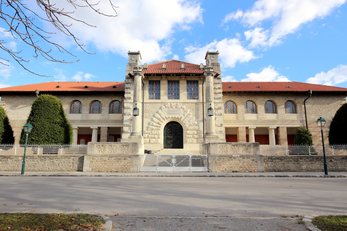
[[[166,70],[162,70],[163,63],[166,64]],[[184,63],[185,70],[181,70],[181,63]],[[143,72],[145,74],[202,74],[204,70],[200,70],[200,65],[172,59],[159,63],[148,64],[147,70],[143,70]]]

